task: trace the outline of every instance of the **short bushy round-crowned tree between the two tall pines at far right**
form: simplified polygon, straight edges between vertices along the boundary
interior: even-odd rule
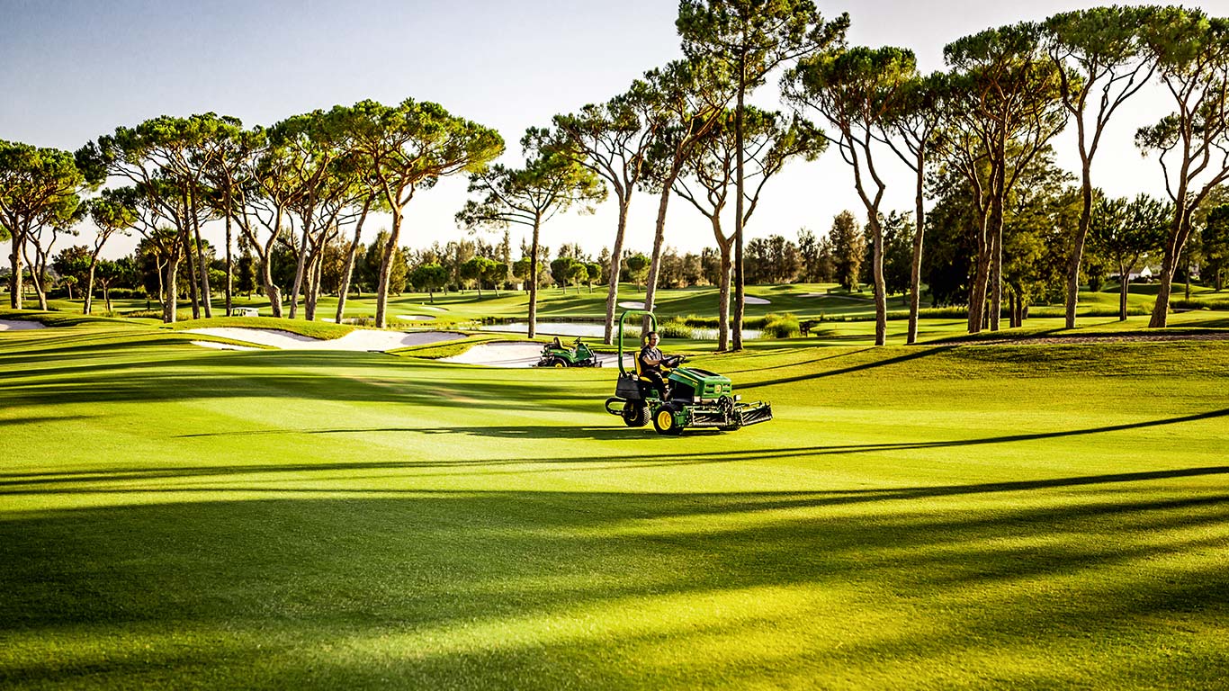
[[[1165,246],[1165,226],[1172,208],[1141,194],[1133,200],[1099,195],[1094,207],[1091,240],[1118,269],[1118,321],[1127,321],[1131,272],[1148,255]]]

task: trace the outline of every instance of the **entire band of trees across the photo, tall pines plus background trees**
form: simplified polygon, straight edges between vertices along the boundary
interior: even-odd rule
[[[353,285],[374,291],[383,325],[388,295],[403,285],[495,290],[512,277],[528,289],[533,334],[544,280],[578,289],[605,283],[607,342],[621,283],[643,286],[653,309],[659,286],[707,282],[718,286],[720,349],[741,348],[744,288],[756,282],[831,277],[847,289],[869,285],[879,344],[886,296],[906,289],[906,273],[911,343],[923,288],[936,304],[967,306],[976,333],[1000,328],[1004,314],[1019,326],[1037,300],[1061,299],[1074,326],[1082,284],[1129,275],[1143,262],[1158,269],[1154,327],[1166,325],[1175,279],[1188,284],[1198,267],[1223,283],[1229,21],[1177,6],[1062,12],[959,38],[944,49],[948,69],[934,74],[919,73],[907,48],[847,45],[848,27],[847,15],[825,20],[811,0],[682,0],[676,28],[685,58],[606,102],[528,128],[517,166],[497,162],[499,133],[412,98],[253,128],[213,113],[160,117],[75,154],[0,141],[11,301],[21,306],[31,267],[45,304],[57,240],[86,218],[96,240],[77,261],[90,269],[70,274],[85,309],[96,282],[116,280],[101,278],[113,269],[100,273],[103,243],[136,232],[144,255],[133,266],[156,274],[167,321],[184,284],[193,317],[213,314],[218,284],[230,310],[236,280],[251,279],[241,278],[249,269],[236,269],[238,247],[238,263],[256,267],[277,316],[289,304],[288,316],[302,305],[315,318],[316,300],[336,286],[339,317]],[[747,106],[772,75],[788,109]],[[1147,84],[1159,85],[1172,107],[1134,138],[1161,166],[1164,197],[1107,198],[1091,172],[1096,152]],[[1064,130],[1074,134],[1077,175],[1053,164]],[[768,181],[827,150],[853,173],[860,220],[842,214],[822,237],[800,234],[796,242],[747,240]],[[913,172],[907,214],[884,208],[880,171],[889,157]],[[462,241],[430,256],[404,250],[407,205],[462,175],[469,199],[458,226],[520,226],[528,240],[519,258]],[[646,255],[624,247],[635,192],[658,202]],[[611,198],[618,216],[603,256],[552,259],[543,251],[543,224]],[[698,257],[669,250],[667,209],[680,198],[713,229],[712,250]],[[388,223],[369,242],[363,234],[372,215]],[[216,250],[202,237],[208,223],[225,227]]]

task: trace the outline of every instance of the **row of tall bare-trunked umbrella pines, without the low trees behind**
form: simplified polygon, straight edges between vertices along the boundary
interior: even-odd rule
[[[891,240],[885,225],[891,216],[881,209],[885,155],[914,172],[913,229],[907,234],[909,342],[917,337],[923,247],[933,225],[927,202],[932,214],[962,230],[939,250],[952,255],[949,264],[967,264],[962,289],[971,307],[970,332],[999,328],[1004,296],[1016,323],[1026,295],[1024,279],[1013,283],[1025,272],[1014,267],[1036,264],[1024,261],[1032,256],[1062,266],[1067,323],[1074,326],[1085,247],[1099,210],[1111,213],[1096,205],[1091,165],[1106,125],[1153,81],[1175,108],[1136,138],[1141,150],[1158,157],[1170,202],[1150,321],[1165,326],[1172,279],[1196,230],[1197,210],[1229,180],[1229,22],[1172,6],[1064,12],[957,39],[944,50],[949,69],[929,75],[918,73],[908,49],[847,47],[848,17],[825,21],[811,0],[682,0],[676,25],[686,59],[645,73],[605,103],[530,128],[521,139],[522,166],[489,165],[503,152],[498,133],[413,100],[395,107],[364,101],[295,116],[268,129],[243,129],[238,120],[214,114],[155,118],[100,136],[75,157],[5,144],[0,223],[12,236],[14,282],[21,280],[18,247],[37,247],[41,229],[66,227],[88,209],[100,236],[104,227],[134,229],[156,245],[165,285],[176,284],[179,262],[188,259],[189,285],[209,316],[200,226],[218,219],[226,227],[227,267],[234,226],[259,258],[274,314],[280,314],[281,295],[270,278],[270,253],[283,234],[294,239],[290,316],[302,294],[305,315],[312,318],[324,248],[344,237],[343,229],[353,230],[347,253],[353,268],[364,220],[385,213],[392,223],[379,272],[376,321],[382,325],[404,207],[440,178],[467,173],[471,199],[457,214],[462,226],[520,224],[530,231],[530,334],[542,224],[568,209],[591,210],[613,195],[618,221],[605,268],[611,339],[628,209],[634,192],[645,191],[658,195],[644,279],[646,306],[653,307],[661,282],[666,210],[678,197],[713,227],[719,348],[739,349],[748,250],[775,252],[787,261],[784,246],[744,242],[761,192],[790,160],[810,160],[831,146],[849,165],[865,210],[876,343],[886,334],[885,257]],[[747,96],[777,70],[784,70],[782,92],[793,112],[747,106]],[[1054,208],[1039,211],[1041,202],[1030,184],[1053,182],[1047,156],[1053,138],[1067,127],[1074,127],[1082,161],[1078,213],[1024,242],[1024,235],[1010,232],[1010,224],[1023,218],[1016,208],[1032,209],[1037,223],[1058,218]],[[29,175],[36,170],[38,175]],[[104,189],[96,204],[82,204],[80,195],[107,178],[124,186]],[[728,229],[723,219],[731,215]],[[798,252],[804,253],[801,242]],[[571,282],[580,279],[580,270],[589,273],[587,267],[560,270]],[[849,274],[847,267],[834,272]],[[227,300],[230,275],[227,270]],[[20,290],[14,295],[20,300]],[[173,318],[175,295],[165,295],[163,304],[166,318]],[[197,304],[194,296],[194,314]]]

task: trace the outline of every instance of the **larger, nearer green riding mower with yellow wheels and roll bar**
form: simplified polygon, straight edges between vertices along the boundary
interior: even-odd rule
[[[667,358],[667,391],[659,391],[642,375],[639,352],[635,369],[623,364],[623,325],[628,316],[644,315],[649,330],[658,328],[658,320],[646,310],[628,310],[618,321],[618,382],[614,395],[606,400],[606,412],[623,418],[628,427],[644,427],[653,421],[659,434],[681,434],[686,428],[715,427],[730,432],[772,419],[772,405],[764,401],[741,403],[729,377],[698,368],[680,366],[682,355]],[[665,374],[665,373],[664,373]]]

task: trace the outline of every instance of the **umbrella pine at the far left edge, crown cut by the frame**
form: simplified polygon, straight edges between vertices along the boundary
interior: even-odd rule
[[[0,226],[9,231],[11,242],[12,309],[22,309],[22,261],[31,232],[71,218],[80,203],[77,193],[88,183],[68,151],[0,139]]]

